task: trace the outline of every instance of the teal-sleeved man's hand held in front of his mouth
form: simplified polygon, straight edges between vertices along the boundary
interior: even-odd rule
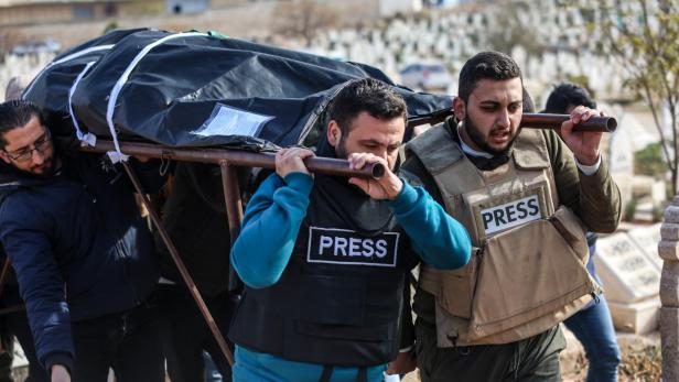
[[[403,182],[389,170],[387,161],[384,159],[368,153],[354,153],[349,155],[348,160],[349,166],[353,170],[360,170],[366,164],[370,163],[380,163],[385,167],[385,175],[379,179],[362,177],[349,178],[351,184],[358,186],[371,198],[394,200],[403,188]]]

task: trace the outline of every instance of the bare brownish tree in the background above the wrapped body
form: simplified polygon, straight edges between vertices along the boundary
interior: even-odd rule
[[[274,33],[301,37],[309,47],[319,31],[336,25],[337,14],[315,0],[281,1],[273,12]]]

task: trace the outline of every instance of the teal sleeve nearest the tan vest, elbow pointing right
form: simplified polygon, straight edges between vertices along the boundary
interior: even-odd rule
[[[394,215],[410,237],[422,260],[441,270],[465,265],[472,253],[470,234],[422,187],[403,182],[403,189],[389,201]]]

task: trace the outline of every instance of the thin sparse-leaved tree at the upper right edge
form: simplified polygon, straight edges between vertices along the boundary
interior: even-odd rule
[[[679,177],[678,8],[677,0],[599,0],[590,9],[599,15],[593,29],[601,29],[607,50],[625,68],[627,86],[653,114],[671,172],[673,194]],[[665,110],[668,124],[662,120]]]

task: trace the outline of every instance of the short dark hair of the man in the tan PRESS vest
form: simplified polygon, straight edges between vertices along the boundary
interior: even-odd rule
[[[457,96],[466,103],[479,80],[506,80],[517,77],[522,84],[521,69],[511,57],[495,51],[481,52],[462,66]]]

